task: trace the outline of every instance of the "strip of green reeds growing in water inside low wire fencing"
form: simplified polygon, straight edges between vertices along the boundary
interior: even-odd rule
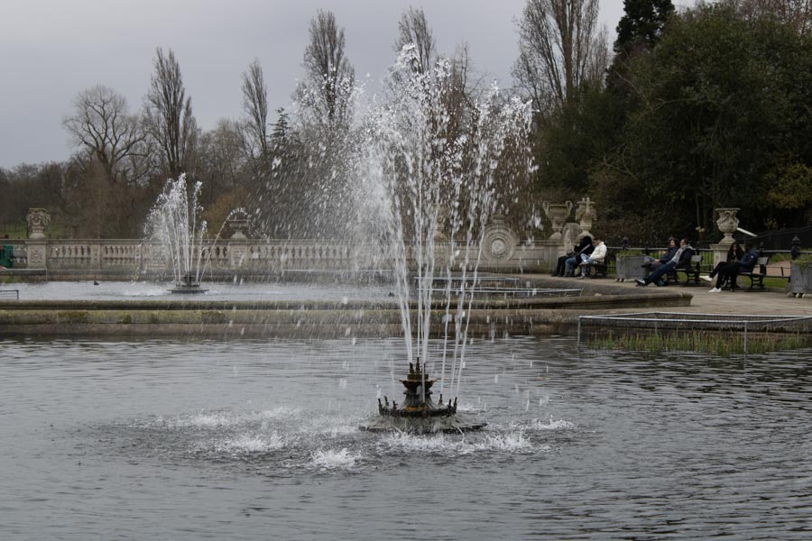
[[[795,350],[808,346],[807,335],[763,334],[748,336],[746,353],[768,353]],[[679,334],[612,333],[587,339],[586,347],[601,350],[645,351],[649,353],[697,352],[720,357],[741,355],[743,333],[721,334],[712,331],[689,331]]]

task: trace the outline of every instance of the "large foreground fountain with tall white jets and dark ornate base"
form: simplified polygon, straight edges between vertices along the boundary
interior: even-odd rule
[[[390,405],[383,397],[379,417],[364,428],[417,433],[475,430],[485,423],[460,416],[457,398],[444,404],[442,392],[447,364],[449,394],[459,392],[477,267],[489,257],[483,252],[484,234],[499,209],[500,190],[510,191],[504,185],[512,184],[501,169],[505,157],[527,156],[529,108],[518,99],[502,99],[494,87],[462,122],[450,96],[455,91],[450,63],[438,61],[435,69],[422,72],[413,68],[416,62],[415,49],[405,46],[392,68],[392,99],[385,108],[372,111],[365,123],[367,154],[356,160],[365,165],[359,175],[366,180],[362,191],[374,194],[359,200],[383,201],[377,210],[389,226],[383,234],[379,230],[375,234],[382,252],[394,261],[410,367],[407,379],[401,381],[406,388],[403,404]],[[445,287],[441,299],[434,298],[438,278]],[[444,315],[438,322],[440,311]],[[438,324],[443,340],[441,351],[433,355],[429,335]],[[438,405],[431,400],[435,381],[427,373],[435,363]]]

